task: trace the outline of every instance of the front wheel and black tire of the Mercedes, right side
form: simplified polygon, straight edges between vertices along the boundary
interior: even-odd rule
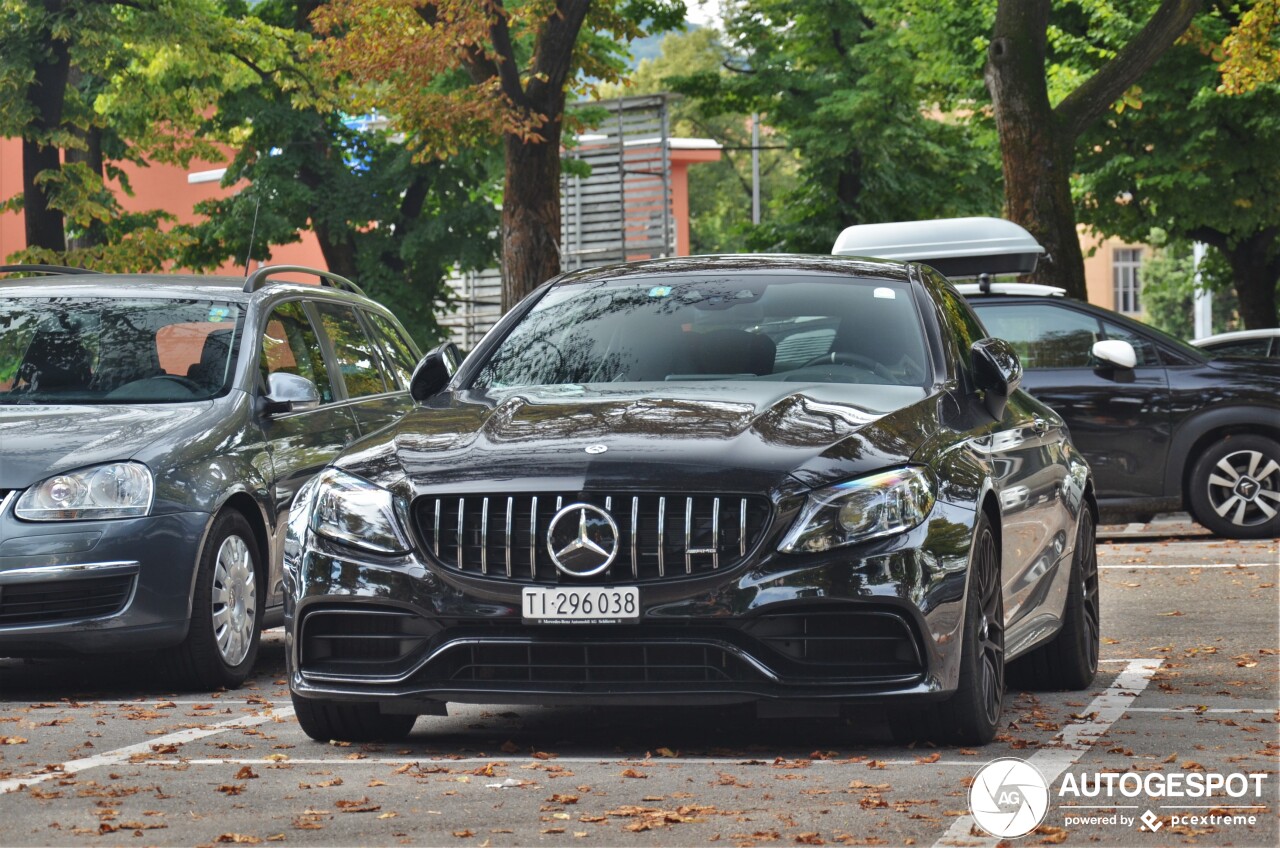
[[[974,532],[965,593],[960,676],[946,701],[890,715],[897,742],[984,746],[996,735],[1005,698],[1005,598],[1000,552],[986,514]]]

